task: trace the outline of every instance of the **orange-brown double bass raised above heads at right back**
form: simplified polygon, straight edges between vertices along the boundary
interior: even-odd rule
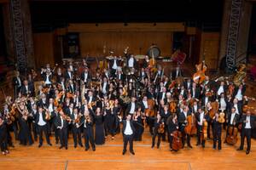
[[[193,75],[193,81],[198,83],[202,83],[206,79],[206,71],[207,71],[207,65],[205,65],[205,60],[202,61],[201,64],[195,65],[196,67],[196,72]]]

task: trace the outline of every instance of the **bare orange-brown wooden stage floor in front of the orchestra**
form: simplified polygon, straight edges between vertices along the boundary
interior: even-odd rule
[[[151,149],[148,129],[143,134],[143,141],[134,144],[135,156],[129,151],[122,156],[123,143],[120,134],[113,140],[108,136],[106,144],[96,146],[95,152],[85,151],[80,147],[74,149],[72,135],[68,150],[59,150],[59,145],[54,142],[55,139],[51,138],[53,146],[44,143],[40,149],[38,142],[32,146],[20,146],[15,142],[15,148],[10,149],[8,156],[0,156],[0,169],[256,169],[254,139],[249,155],[246,155],[245,150],[236,150],[240,141],[235,146],[223,144],[223,150],[213,150],[212,140],[207,140],[206,148],[202,149],[195,146],[195,137],[191,139],[193,149],[185,147],[173,153],[166,142],[160,144],[160,149]]]

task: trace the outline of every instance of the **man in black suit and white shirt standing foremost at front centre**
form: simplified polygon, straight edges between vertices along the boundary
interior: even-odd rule
[[[135,155],[133,150],[133,135],[135,133],[135,127],[133,122],[131,121],[131,115],[126,116],[126,120],[123,121],[123,139],[124,139],[124,149],[123,155],[125,155],[126,147],[129,142],[130,144],[130,152],[132,155]]]

